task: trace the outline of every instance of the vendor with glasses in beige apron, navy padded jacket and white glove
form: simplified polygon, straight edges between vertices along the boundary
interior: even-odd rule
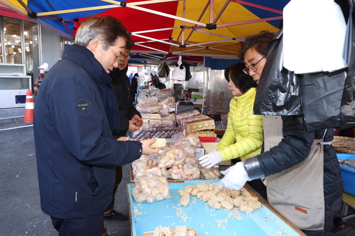
[[[245,73],[259,84],[274,34],[261,32],[244,41]],[[330,144],[334,129],[306,131],[302,116],[264,116],[265,152],[228,168],[220,186],[240,189],[262,178],[268,202],[307,235],[333,235],[343,184]]]

